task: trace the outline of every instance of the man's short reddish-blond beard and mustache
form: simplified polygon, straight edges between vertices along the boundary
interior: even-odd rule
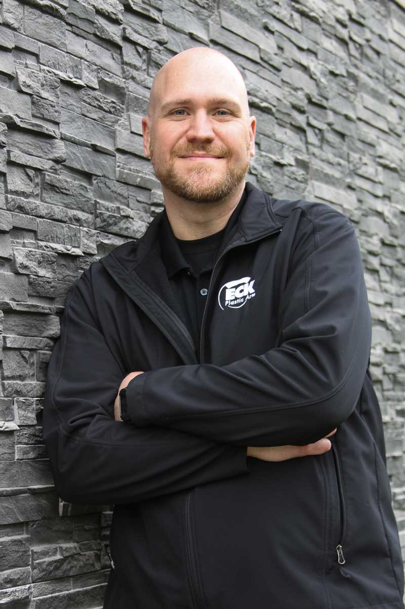
[[[244,179],[247,169],[249,169],[251,143],[246,139],[246,157],[244,162],[232,165],[226,163],[223,175],[213,177],[211,167],[207,167],[206,161],[198,163],[195,161],[194,167],[187,172],[187,175],[180,175],[175,167],[175,158],[182,155],[191,155],[193,152],[204,152],[207,155],[224,157],[229,159],[230,151],[226,147],[199,144],[199,146],[176,146],[171,150],[170,159],[165,167],[159,168],[153,159],[153,140],[150,141],[150,160],[153,165],[157,179],[169,191],[174,192],[182,199],[187,199],[193,203],[214,203],[223,200],[233,192]]]

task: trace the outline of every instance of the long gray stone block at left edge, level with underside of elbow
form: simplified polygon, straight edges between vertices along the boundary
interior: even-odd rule
[[[58,515],[58,497],[54,492],[0,497],[0,524],[35,521]]]

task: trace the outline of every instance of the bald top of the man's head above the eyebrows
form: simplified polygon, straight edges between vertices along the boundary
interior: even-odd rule
[[[218,88],[218,99],[224,91],[232,94],[246,118],[249,116],[246,86],[237,66],[220,51],[197,46],[175,55],[157,72],[150,92],[149,118],[153,119],[168,96],[187,98],[187,89],[204,94],[208,84],[210,91]]]

